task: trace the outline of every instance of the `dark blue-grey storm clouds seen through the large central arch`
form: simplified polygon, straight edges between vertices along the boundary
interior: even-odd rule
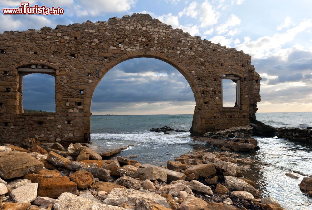
[[[194,101],[177,69],[156,59],[138,58],[111,69],[97,86],[93,102]]]

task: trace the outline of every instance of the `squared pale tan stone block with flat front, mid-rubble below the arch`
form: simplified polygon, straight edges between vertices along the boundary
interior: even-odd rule
[[[167,172],[161,170],[156,167],[150,168],[139,168],[138,169],[139,178],[142,180],[149,179],[149,180],[158,180],[158,181],[167,181]]]

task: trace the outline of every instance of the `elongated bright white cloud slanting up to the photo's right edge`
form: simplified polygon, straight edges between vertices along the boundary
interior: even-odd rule
[[[244,50],[253,58],[265,58],[280,50],[284,44],[293,41],[296,35],[310,27],[312,27],[311,19],[302,21],[298,26],[290,28],[284,33],[262,36],[256,41],[251,41],[251,38],[247,36],[243,43],[236,45],[236,48]]]

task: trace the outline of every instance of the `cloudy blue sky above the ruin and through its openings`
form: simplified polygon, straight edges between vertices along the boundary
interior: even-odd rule
[[[1,0],[0,8],[17,8],[20,2]],[[312,111],[310,0],[27,2],[31,6],[37,3],[62,7],[65,12],[54,16],[3,15],[1,12],[0,33],[149,13],[173,28],[251,55],[252,64],[262,77],[258,112]],[[27,75],[23,87],[24,108],[53,111],[51,76]],[[40,103],[36,101],[38,98]],[[178,70],[160,60],[139,58],[124,61],[105,75],[95,90],[91,111],[94,114],[193,114],[194,106],[192,90]]]

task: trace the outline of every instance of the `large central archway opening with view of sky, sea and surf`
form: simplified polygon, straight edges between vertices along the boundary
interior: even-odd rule
[[[126,60],[110,69],[93,93],[91,141],[103,150],[135,145],[120,155],[165,164],[193,149],[194,108],[192,88],[175,67],[154,58]],[[163,126],[186,132],[150,131]]]

